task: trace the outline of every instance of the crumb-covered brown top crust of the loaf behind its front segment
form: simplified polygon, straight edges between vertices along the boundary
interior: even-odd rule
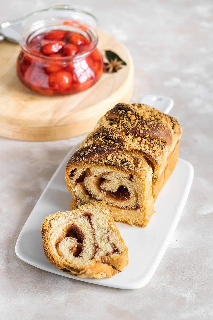
[[[181,127],[175,118],[150,106],[118,103],[99,120],[82,147],[106,145],[116,148],[117,153],[122,150],[128,154],[138,150],[149,163],[158,166],[180,134]]]

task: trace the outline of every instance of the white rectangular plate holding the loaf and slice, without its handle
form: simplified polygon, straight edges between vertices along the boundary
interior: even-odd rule
[[[18,237],[15,252],[23,261],[46,271],[68,278],[122,289],[143,287],[153,276],[175,231],[193,180],[193,166],[178,159],[169,180],[155,204],[155,213],[146,228],[116,223],[129,247],[129,265],[110,279],[77,278],[51,265],[43,252],[41,225],[44,218],[57,211],[69,210],[72,195],[65,183],[65,168],[75,152],[70,150],[53,174]]]

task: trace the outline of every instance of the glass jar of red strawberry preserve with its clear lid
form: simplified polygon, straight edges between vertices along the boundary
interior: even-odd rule
[[[84,91],[103,73],[94,16],[67,6],[34,12],[23,22],[17,74],[45,95]]]

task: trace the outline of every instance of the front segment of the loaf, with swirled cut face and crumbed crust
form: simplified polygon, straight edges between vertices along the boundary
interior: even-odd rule
[[[104,200],[115,221],[145,227],[154,212],[152,169],[105,145],[82,147],[67,164],[68,190],[77,205]]]

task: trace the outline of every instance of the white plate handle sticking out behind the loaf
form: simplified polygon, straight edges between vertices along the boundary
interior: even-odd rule
[[[140,103],[154,107],[163,113],[170,112],[171,108],[174,106],[173,99],[159,94],[146,94],[146,96],[141,98]]]

